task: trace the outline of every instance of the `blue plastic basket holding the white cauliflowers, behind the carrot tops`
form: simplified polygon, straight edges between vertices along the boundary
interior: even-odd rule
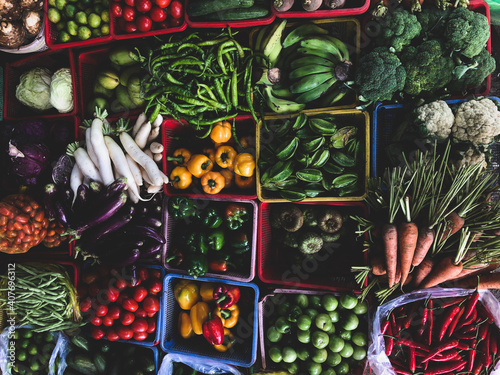
[[[488,96],[492,100],[500,102],[500,98]],[[463,103],[467,99],[446,100],[449,105]],[[372,134],[371,134],[371,175],[380,176],[388,166],[385,160],[385,149],[391,143],[395,132],[395,125],[404,119],[406,108],[401,104],[378,103],[373,111]],[[500,165],[500,147],[492,145],[492,168],[497,170]]]

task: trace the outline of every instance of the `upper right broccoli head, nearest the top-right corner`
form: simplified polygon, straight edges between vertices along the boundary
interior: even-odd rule
[[[454,9],[444,28],[446,48],[468,58],[477,56],[490,37],[488,18],[466,8]]]

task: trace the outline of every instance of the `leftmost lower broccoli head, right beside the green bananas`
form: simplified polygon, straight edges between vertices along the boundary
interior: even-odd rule
[[[406,72],[399,58],[386,48],[376,48],[364,55],[356,69],[359,94],[368,101],[391,100],[403,90]]]

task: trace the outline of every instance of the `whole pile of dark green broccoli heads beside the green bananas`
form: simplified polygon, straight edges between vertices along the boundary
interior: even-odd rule
[[[488,19],[467,8],[423,7],[412,14],[390,11],[380,34],[360,59],[355,83],[362,100],[399,100],[463,95],[496,67],[485,46]]]

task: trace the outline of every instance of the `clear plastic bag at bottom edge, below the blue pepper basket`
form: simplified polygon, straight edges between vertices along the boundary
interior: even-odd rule
[[[243,375],[238,369],[225,363],[216,362],[206,358],[197,358],[182,354],[170,353],[163,358],[158,375],[172,375],[174,362],[183,363],[193,370],[207,375],[234,374]]]

